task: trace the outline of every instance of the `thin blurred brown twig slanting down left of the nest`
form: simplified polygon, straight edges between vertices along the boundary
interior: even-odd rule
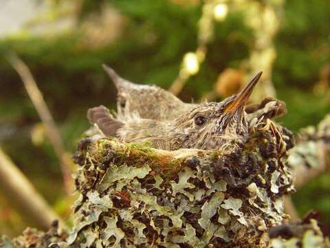
[[[25,89],[28,92],[34,107],[36,108],[36,111],[38,112],[43,125],[45,125],[47,136],[50,138],[50,143],[52,144],[56,156],[58,157],[58,160],[61,164],[65,191],[67,194],[71,194],[73,189],[71,177],[72,166],[69,162],[67,154],[65,153],[61,133],[56,127],[52,114],[50,114],[50,110],[48,109],[47,104],[43,99],[43,95],[36,85],[36,81],[34,80],[28,66],[25,65],[25,63],[19,59],[16,54],[11,54],[8,56],[8,60],[10,61],[14,70],[16,70],[19,76],[21,76]]]

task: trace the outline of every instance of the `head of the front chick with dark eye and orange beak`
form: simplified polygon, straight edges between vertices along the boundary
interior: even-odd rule
[[[219,103],[204,103],[175,120],[184,147],[215,149],[225,143],[241,141],[248,133],[245,105],[262,72],[239,92]]]

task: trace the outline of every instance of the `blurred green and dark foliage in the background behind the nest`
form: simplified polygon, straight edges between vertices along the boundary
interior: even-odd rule
[[[102,63],[111,65],[125,79],[168,88],[179,72],[182,56],[197,46],[202,3],[85,0],[80,21],[100,12],[105,2],[126,19],[120,37],[107,45],[85,45],[83,41],[88,37],[80,28],[56,37],[11,37],[0,41],[0,54],[4,55],[0,58],[0,143],[52,205],[63,202],[63,192],[58,190],[58,162],[50,143],[35,146],[31,142],[30,132],[39,116],[5,54],[17,52],[30,67],[61,128],[67,151],[74,152],[78,138],[89,127],[87,109],[100,104],[115,106],[115,90]],[[273,79],[278,99],[285,101],[288,109],[280,121],[296,132],[300,127],[315,125],[329,112],[329,99],[314,94],[312,89],[320,70],[330,62],[330,5],[327,0],[288,0],[282,16],[281,29],[274,40],[277,57]],[[219,72],[238,68],[248,58],[252,40],[243,13],[230,12],[224,22],[216,23],[206,61],[199,74],[188,81],[181,99],[199,99],[212,90]],[[300,214],[314,208],[329,216],[329,182],[327,175],[316,178],[294,196]]]

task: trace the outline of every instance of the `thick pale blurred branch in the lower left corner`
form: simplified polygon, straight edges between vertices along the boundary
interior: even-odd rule
[[[23,211],[25,217],[34,220],[39,227],[48,229],[54,220],[63,220],[36,191],[28,178],[17,168],[0,148],[0,185],[5,195],[13,200]]]

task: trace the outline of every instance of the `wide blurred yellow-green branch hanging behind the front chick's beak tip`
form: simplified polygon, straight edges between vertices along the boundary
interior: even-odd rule
[[[247,64],[247,77],[250,78],[259,71],[263,71],[261,83],[256,85],[251,100],[261,102],[265,97],[276,97],[276,90],[272,83],[272,70],[276,59],[274,37],[281,24],[280,13],[284,1],[246,1],[236,6],[245,13],[245,23],[252,29],[254,40]]]

